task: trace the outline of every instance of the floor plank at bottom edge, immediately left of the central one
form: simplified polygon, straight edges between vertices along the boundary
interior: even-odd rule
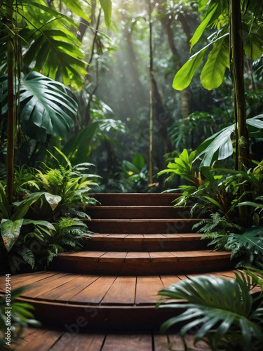
[[[81,323],[85,323],[85,321]],[[69,332],[64,333],[60,340],[58,340],[58,342],[50,348],[50,351],[100,351],[105,338],[104,333],[75,334],[76,333]]]

